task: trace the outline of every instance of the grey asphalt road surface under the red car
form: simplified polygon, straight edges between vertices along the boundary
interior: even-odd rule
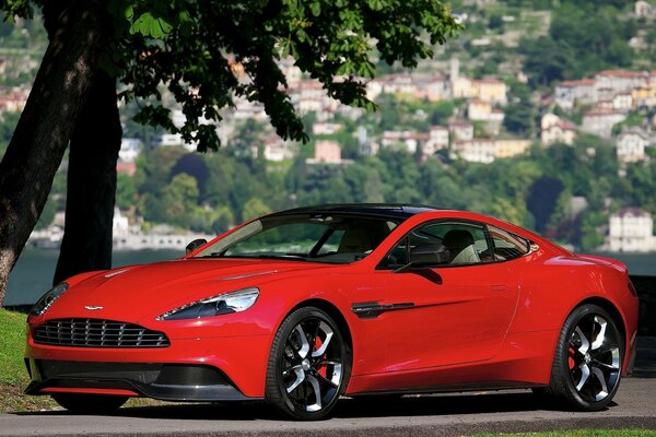
[[[121,409],[114,416],[65,411],[0,415],[0,436],[462,436],[582,427],[656,429],[656,338],[639,343],[636,368],[614,403],[597,413],[546,408],[529,391],[344,399],[333,418],[278,420],[262,404],[190,404]]]

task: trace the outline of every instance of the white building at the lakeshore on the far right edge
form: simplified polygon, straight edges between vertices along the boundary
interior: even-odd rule
[[[610,215],[607,248],[613,252],[656,250],[652,214],[639,208],[625,208]]]

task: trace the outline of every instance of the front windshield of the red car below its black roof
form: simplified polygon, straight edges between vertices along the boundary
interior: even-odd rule
[[[195,258],[349,263],[370,255],[398,224],[398,220],[343,214],[272,215],[238,228]]]

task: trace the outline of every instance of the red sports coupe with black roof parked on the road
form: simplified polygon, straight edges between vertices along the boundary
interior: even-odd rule
[[[46,293],[26,393],[73,412],[263,399],[314,420],[340,395],[532,388],[591,411],[634,351],[624,264],[479,214],[302,208],[198,245]]]

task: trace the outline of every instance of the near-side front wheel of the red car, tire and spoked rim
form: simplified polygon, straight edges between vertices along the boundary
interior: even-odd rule
[[[292,418],[324,418],[344,392],[350,375],[350,347],[335,320],[318,308],[300,308],[273,338],[265,397]]]

